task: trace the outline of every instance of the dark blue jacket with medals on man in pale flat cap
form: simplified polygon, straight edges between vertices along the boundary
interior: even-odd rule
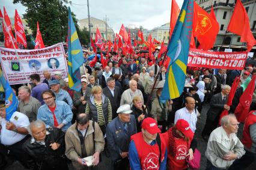
[[[116,117],[106,127],[106,139],[112,162],[121,159],[120,153],[129,150],[130,136],[137,133],[136,120],[134,115],[130,115],[128,125],[128,135],[124,132],[124,124],[120,118]]]

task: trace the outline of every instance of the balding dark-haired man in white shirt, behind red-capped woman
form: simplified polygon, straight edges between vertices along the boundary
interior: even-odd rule
[[[195,109],[195,99],[193,97],[185,98],[185,107],[175,112],[174,124],[183,119],[189,123],[189,127],[195,133],[197,125],[197,109]]]

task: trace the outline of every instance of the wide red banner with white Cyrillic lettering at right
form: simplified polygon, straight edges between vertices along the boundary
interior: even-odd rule
[[[243,70],[247,52],[209,52],[200,49],[189,49],[187,66]]]

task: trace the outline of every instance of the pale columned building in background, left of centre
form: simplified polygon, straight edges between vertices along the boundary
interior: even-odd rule
[[[96,29],[98,28],[100,30],[100,33],[102,34],[102,37],[105,40],[114,41],[115,32],[113,31],[112,28],[109,28],[108,24],[104,20],[100,20],[95,17],[90,17],[90,22],[91,22],[91,37],[93,39],[95,39],[96,37]],[[78,25],[80,29],[87,28],[87,30],[89,30],[88,18],[78,20]],[[106,28],[108,30],[107,34],[106,34]]]

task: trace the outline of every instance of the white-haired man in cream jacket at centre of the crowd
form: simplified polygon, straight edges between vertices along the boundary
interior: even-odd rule
[[[137,89],[137,82],[135,80],[130,80],[129,87],[130,88],[122,94],[120,105],[128,104],[132,106],[134,96],[141,96],[142,102],[144,103],[143,94]]]

